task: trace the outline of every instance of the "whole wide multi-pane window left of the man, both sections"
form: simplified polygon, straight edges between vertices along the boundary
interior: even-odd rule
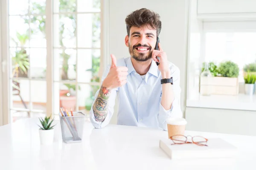
[[[10,57],[3,60],[10,65],[10,122],[52,110],[58,114],[60,107],[87,113],[99,89],[100,0],[52,0],[52,11],[46,1],[8,1]],[[52,36],[46,31],[49,19]],[[47,41],[53,42],[51,48]],[[47,57],[53,61],[52,108],[46,105],[47,95],[52,95],[47,92]]]

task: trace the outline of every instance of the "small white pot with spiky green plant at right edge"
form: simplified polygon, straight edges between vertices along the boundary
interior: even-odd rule
[[[250,72],[244,76],[244,94],[253,95],[255,92],[256,75]]]

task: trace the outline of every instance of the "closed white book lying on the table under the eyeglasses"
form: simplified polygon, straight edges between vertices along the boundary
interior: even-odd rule
[[[232,144],[220,138],[209,138],[208,146],[198,146],[197,144],[173,144],[171,139],[161,139],[159,147],[171,159],[186,158],[234,158],[238,150]]]

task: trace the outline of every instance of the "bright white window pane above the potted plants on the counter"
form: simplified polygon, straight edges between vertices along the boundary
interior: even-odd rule
[[[220,63],[231,60],[239,66],[239,81],[243,82],[243,67],[256,61],[256,33],[206,33],[206,61]]]

